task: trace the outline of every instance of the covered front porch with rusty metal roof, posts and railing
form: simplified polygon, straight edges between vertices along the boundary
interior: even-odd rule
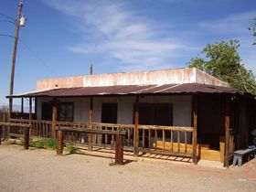
[[[159,86],[105,86],[37,91],[11,98],[28,98],[28,120],[10,118],[14,123],[30,123],[31,136],[56,138],[56,127],[126,131],[124,150],[133,155],[150,153],[199,159],[229,161],[248,126],[234,106],[246,111],[239,91],[203,84]],[[32,101],[35,98],[35,114]],[[238,116],[239,114],[239,116]],[[33,119],[33,116],[37,119]],[[68,122],[67,122],[68,121]],[[21,133],[10,130],[10,136]],[[108,148],[111,135],[67,132],[67,143]],[[242,141],[243,140],[243,141]]]

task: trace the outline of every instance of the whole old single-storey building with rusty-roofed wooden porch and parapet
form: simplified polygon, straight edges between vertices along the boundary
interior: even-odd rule
[[[126,130],[125,150],[224,162],[250,143],[255,100],[199,69],[165,69],[37,81],[37,91],[12,98],[35,99],[31,134],[55,137],[61,124],[91,129]],[[254,117],[253,117],[254,115]],[[107,135],[92,141],[70,133],[66,140],[97,146],[112,144]]]

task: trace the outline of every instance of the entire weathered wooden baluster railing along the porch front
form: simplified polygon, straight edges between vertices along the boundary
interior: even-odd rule
[[[29,120],[11,119],[12,123],[29,123]],[[50,138],[52,131],[51,121],[32,120],[31,136]],[[56,126],[82,128],[105,131],[125,131],[123,146],[125,150],[134,148],[134,124],[113,123],[70,123],[57,122]],[[139,152],[149,152],[160,155],[177,155],[191,157],[193,154],[192,133],[193,127],[139,125]],[[22,134],[22,130],[13,128],[10,133]],[[68,143],[88,144],[88,133],[65,132],[63,139]],[[113,146],[114,136],[111,134],[91,134],[92,145]]]

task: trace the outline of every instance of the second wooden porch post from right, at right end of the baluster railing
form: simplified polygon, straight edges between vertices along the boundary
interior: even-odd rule
[[[195,165],[197,165],[197,95],[193,95],[193,156],[192,161]]]

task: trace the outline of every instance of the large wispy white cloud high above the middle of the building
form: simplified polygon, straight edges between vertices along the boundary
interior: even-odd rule
[[[46,0],[46,3],[80,20],[84,41],[70,46],[69,51],[106,54],[123,63],[121,69],[127,66],[124,64],[129,64],[129,69],[138,69],[138,65],[139,69],[164,68],[179,50],[184,52],[189,48],[181,40],[165,37],[161,23],[138,16],[115,1]]]

